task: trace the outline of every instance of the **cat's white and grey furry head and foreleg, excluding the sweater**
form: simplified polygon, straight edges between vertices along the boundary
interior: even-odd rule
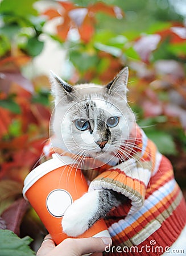
[[[126,100],[128,72],[128,68],[123,69],[106,86],[71,86],[53,75],[55,118],[52,126],[61,148],[75,155],[104,158],[108,162],[113,158],[113,152],[121,146],[121,140],[129,137],[135,123],[134,114]],[[86,193],[65,213],[62,222],[64,232],[68,236],[84,233],[125,200],[125,196],[108,189]],[[87,205],[87,201],[91,204]],[[76,214],[81,218],[75,217]]]

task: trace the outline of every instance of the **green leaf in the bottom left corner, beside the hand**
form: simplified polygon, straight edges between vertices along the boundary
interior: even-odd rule
[[[0,230],[0,255],[1,256],[32,256],[34,251],[28,246],[32,239],[30,237],[19,238],[10,230]]]

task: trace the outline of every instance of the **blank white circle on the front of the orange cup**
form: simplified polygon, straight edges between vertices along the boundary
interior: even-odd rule
[[[64,189],[51,191],[46,200],[47,210],[54,217],[64,216],[65,210],[73,202],[71,194]]]

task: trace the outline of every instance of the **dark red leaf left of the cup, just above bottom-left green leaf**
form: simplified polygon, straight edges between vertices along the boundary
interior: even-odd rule
[[[20,223],[28,208],[28,202],[21,198],[16,200],[2,213],[2,218],[6,222],[7,229],[12,230],[18,236]]]

